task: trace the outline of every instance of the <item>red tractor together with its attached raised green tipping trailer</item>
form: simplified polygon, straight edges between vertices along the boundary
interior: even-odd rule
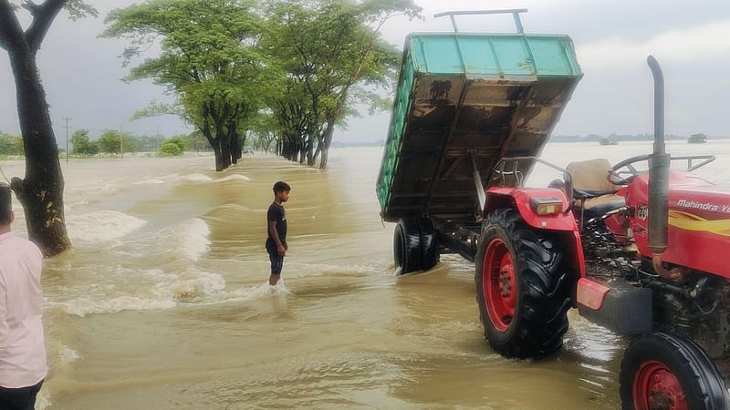
[[[395,265],[474,261],[485,336],[507,357],[558,351],[571,307],[629,336],[626,409],[730,408],[718,370],[730,358],[730,191],[692,173],[714,157],[665,152],[650,56],[651,155],[568,169],[539,159],[583,74],[569,36],[525,33],[526,11],[447,12],[436,16],[454,33],[406,38],[376,183],[382,219],[397,222]],[[495,14],[516,33],[463,34],[454,19]],[[562,179],[526,188],[537,163]]]

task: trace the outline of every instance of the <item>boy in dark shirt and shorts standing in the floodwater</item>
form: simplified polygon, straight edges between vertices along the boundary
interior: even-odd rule
[[[274,184],[274,203],[268,207],[266,212],[266,251],[271,261],[271,276],[268,284],[276,285],[281,277],[281,268],[284,266],[284,256],[287,254],[287,212],[284,210],[284,202],[289,200],[291,187],[284,181]]]

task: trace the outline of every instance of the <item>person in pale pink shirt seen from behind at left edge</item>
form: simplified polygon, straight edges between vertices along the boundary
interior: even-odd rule
[[[10,230],[11,190],[0,184],[0,409],[33,410],[47,375],[43,254]]]

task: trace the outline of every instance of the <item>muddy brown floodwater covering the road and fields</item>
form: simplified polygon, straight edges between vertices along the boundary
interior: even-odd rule
[[[543,158],[648,153],[650,142],[548,144]],[[698,172],[728,179],[730,142]],[[49,374],[38,408],[612,409],[626,341],[570,313],[565,348],[507,360],[485,342],[474,265],[446,255],[397,276],[374,193],[381,149],[326,171],[272,156],[64,165],[74,248],[47,261]],[[20,162],[0,167],[9,177]],[[536,169],[534,183],[554,178]],[[284,283],[270,290],[266,209],[291,184]],[[25,236],[22,210],[14,229]]]

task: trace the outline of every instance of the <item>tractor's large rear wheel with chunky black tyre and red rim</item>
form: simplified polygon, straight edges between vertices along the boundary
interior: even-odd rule
[[[506,357],[556,352],[568,331],[563,253],[550,232],[527,227],[515,210],[485,220],[476,255],[476,302],[485,337]]]

